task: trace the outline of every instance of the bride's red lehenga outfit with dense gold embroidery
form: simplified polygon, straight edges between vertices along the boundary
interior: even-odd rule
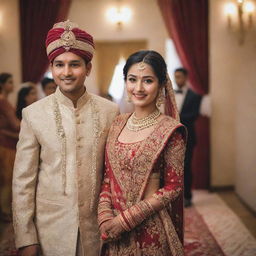
[[[103,244],[104,256],[181,256],[183,252],[183,162],[185,128],[164,117],[145,140],[121,143],[118,137],[129,115],[114,121],[106,145],[105,174],[101,187],[99,225],[121,214],[131,230],[117,241]],[[152,181],[159,181],[152,196],[162,210],[134,225]],[[154,193],[155,192],[155,193]],[[136,208],[137,207],[137,208]]]

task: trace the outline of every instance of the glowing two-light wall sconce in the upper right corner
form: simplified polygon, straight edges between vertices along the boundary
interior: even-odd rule
[[[225,6],[228,28],[235,29],[235,24],[237,24],[240,45],[244,43],[246,32],[253,27],[254,11],[254,3],[247,0],[236,0],[236,2],[227,3]]]

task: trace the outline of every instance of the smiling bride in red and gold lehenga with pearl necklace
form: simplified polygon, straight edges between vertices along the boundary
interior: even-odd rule
[[[135,111],[117,117],[109,132],[98,209],[101,255],[184,255],[186,130],[166,63],[155,51],[139,51],[123,73]],[[169,116],[158,110],[163,101]]]

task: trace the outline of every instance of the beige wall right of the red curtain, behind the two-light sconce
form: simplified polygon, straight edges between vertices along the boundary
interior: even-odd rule
[[[256,210],[256,32],[227,29],[227,0],[210,1],[211,185],[235,185]]]

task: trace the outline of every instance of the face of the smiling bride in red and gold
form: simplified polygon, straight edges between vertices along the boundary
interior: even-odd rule
[[[128,70],[126,88],[135,107],[155,106],[159,87],[158,78],[150,65],[140,62],[133,64]]]

